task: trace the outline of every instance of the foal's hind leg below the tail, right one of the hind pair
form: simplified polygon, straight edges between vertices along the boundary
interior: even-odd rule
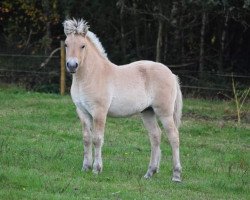
[[[181,163],[179,153],[179,131],[174,123],[173,116],[159,116],[162,125],[167,130],[167,137],[172,148],[173,177],[172,181],[181,182]]]

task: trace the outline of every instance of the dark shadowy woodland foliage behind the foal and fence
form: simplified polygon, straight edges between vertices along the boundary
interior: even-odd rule
[[[250,0],[2,0],[0,53],[48,56],[72,17],[89,22],[119,65],[156,60],[196,85],[250,72]]]

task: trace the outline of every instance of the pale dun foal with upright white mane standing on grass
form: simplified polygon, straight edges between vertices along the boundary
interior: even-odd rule
[[[149,132],[151,158],[145,178],[159,170],[161,130],[159,118],[172,147],[173,181],[181,181],[179,132],[182,94],[178,78],[168,67],[152,61],[117,66],[107,58],[87,23],[66,20],[66,68],[72,74],[71,96],[83,125],[83,170],[102,171],[102,145],[107,116],[141,113]],[[94,145],[94,162],[92,158]]]

